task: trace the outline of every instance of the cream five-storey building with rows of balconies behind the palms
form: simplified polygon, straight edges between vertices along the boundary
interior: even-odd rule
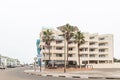
[[[42,31],[44,31],[43,29]],[[64,61],[65,40],[59,30],[51,29],[54,33],[55,40],[51,42],[50,56],[51,60]],[[40,39],[42,40],[42,31],[40,33]],[[113,35],[97,33],[83,33],[85,36],[85,43],[79,48],[80,50],[80,63],[81,64],[112,64],[113,63]],[[42,53],[44,54],[44,60],[49,59],[49,51],[45,47],[44,41],[41,41]],[[75,61],[78,64],[78,48],[74,43],[74,39],[71,39],[68,43],[68,61]]]

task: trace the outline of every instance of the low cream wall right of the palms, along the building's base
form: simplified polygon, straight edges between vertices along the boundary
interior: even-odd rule
[[[120,63],[113,63],[113,64],[93,64],[93,68],[120,68]]]

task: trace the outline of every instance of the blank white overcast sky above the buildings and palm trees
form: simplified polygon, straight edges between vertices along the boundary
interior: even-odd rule
[[[113,34],[114,56],[120,58],[120,0],[0,0],[0,54],[30,63],[41,27],[66,23]]]

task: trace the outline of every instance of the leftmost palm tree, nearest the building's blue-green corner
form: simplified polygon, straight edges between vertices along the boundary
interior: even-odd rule
[[[50,29],[47,29],[45,31],[43,31],[43,37],[42,37],[43,41],[45,42],[45,47],[47,47],[47,49],[49,50],[49,60],[48,62],[51,60],[51,56],[50,56],[50,43],[54,40],[54,36],[53,36],[53,32]],[[47,62],[47,64],[48,64]]]

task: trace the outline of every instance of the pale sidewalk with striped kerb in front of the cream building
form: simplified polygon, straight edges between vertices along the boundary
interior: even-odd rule
[[[25,70],[27,74],[37,75],[37,76],[49,76],[49,77],[67,77],[67,78],[82,78],[82,79],[120,79],[120,69],[116,71],[105,71],[103,70],[94,70],[94,69],[79,69],[71,70],[67,69],[67,72],[64,73],[63,69],[42,69],[39,70]]]

